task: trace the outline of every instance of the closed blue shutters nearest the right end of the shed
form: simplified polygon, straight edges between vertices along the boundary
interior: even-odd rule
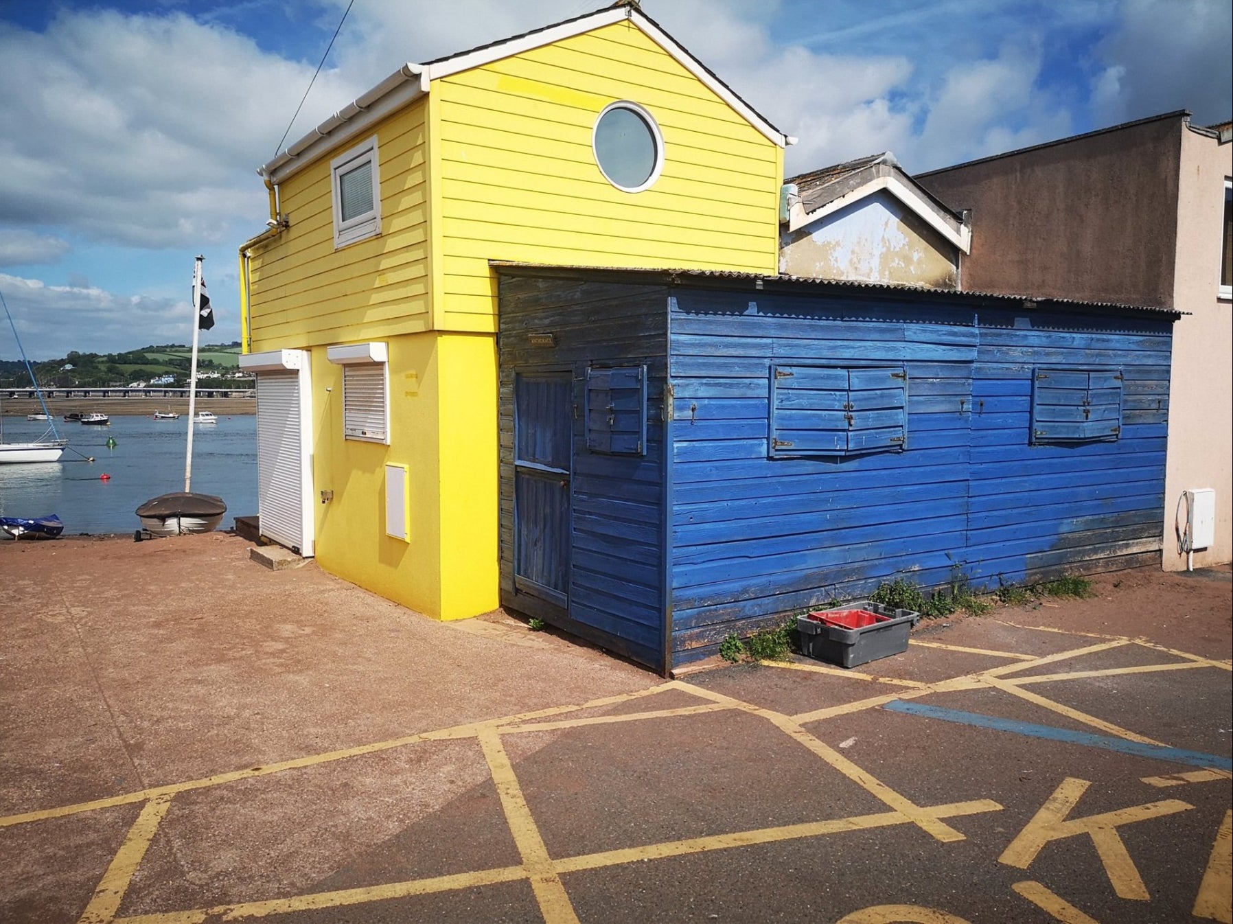
[[[1122,435],[1121,369],[1037,369],[1032,443],[1079,443]]]

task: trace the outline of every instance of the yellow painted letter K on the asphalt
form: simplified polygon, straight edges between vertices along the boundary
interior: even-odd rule
[[[1089,780],[1067,777],[1053,794],[1044,801],[1039,811],[1021,830],[1010,846],[997,857],[997,862],[1026,870],[1036,860],[1046,844],[1078,834],[1091,838],[1105,866],[1105,873],[1118,897],[1147,902],[1150,899],[1143,877],[1131,860],[1126,844],[1117,834],[1118,825],[1145,822],[1149,818],[1186,812],[1194,806],[1178,799],[1150,802],[1144,806],[1121,808],[1116,812],[1102,812],[1086,818],[1067,819],[1067,815],[1079,802],[1079,797],[1091,786]]]

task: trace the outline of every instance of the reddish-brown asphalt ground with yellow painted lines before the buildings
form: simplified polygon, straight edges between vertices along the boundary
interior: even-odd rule
[[[1229,920],[1227,572],[663,680],[237,543],[181,548],[250,617],[14,624],[5,920]]]

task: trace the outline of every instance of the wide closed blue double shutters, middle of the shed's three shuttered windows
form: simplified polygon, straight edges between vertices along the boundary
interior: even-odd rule
[[[771,366],[772,459],[903,452],[906,445],[904,366]]]

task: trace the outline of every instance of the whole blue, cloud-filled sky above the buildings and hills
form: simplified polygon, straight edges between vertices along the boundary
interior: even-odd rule
[[[254,170],[348,0],[0,0],[0,291],[32,358],[187,342],[192,257],[239,338]],[[295,141],[397,69],[602,0],[355,0]],[[1189,109],[1233,109],[1229,0],[644,0],[800,143],[909,171]],[[6,327],[6,326],[5,326]],[[12,358],[0,329],[0,358]]]

